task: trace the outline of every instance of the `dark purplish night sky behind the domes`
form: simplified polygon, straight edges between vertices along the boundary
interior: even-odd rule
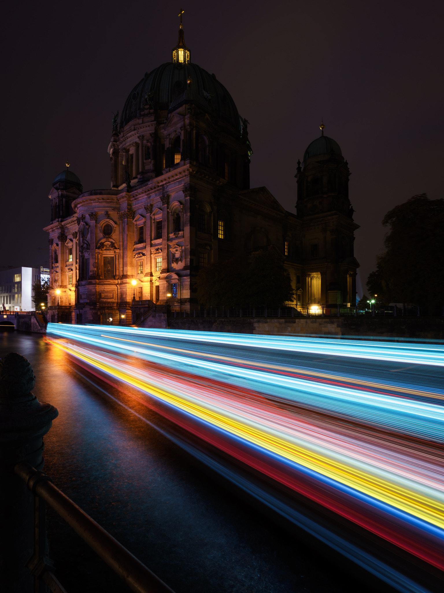
[[[47,266],[41,229],[66,159],[85,190],[110,187],[112,111],[146,71],[170,61],[179,8],[92,0],[11,3],[3,12],[0,265]],[[364,286],[385,213],[416,193],[444,197],[444,3],[182,8],[191,61],[215,73],[250,122],[251,186],[268,187],[291,212],[296,162],[323,117],[352,171]]]

